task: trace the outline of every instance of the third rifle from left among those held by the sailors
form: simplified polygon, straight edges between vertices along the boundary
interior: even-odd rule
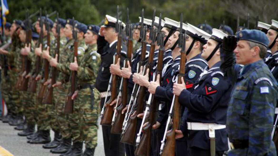
[[[137,72],[140,72],[139,69],[141,66],[143,66],[145,64],[145,60],[146,60],[146,50],[147,50],[146,33],[147,33],[147,27],[144,26],[144,9],[142,9],[141,29],[140,29],[140,39],[142,41],[141,42],[142,50],[141,50],[141,60],[137,64]],[[145,67],[143,69],[143,73],[145,73]],[[137,92],[135,91],[136,89],[137,89]],[[133,105],[132,105],[132,108],[131,108],[129,114],[127,114],[128,116],[125,121],[123,132],[121,134],[121,142],[124,144],[129,144],[129,145],[134,144],[134,140],[135,140],[134,137],[136,135],[136,126],[137,126],[137,115],[139,114],[138,112],[140,112],[140,113],[143,112],[143,107],[144,107],[143,102],[142,102],[143,99],[141,100],[142,103],[137,102],[137,100],[140,98],[139,97],[140,90],[141,90],[141,86],[139,86],[138,84],[135,84],[134,88],[133,88],[134,93],[136,92],[135,99],[134,99],[134,95],[132,95],[133,97],[131,97],[131,99],[130,99],[130,104],[132,103],[131,100],[134,99]],[[136,113],[137,115],[131,116],[135,111],[137,111],[137,113]]]

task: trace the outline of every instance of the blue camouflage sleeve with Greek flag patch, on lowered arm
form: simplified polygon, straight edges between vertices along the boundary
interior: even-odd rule
[[[249,92],[249,148],[247,156],[265,155],[270,150],[277,91],[267,81],[260,81]]]

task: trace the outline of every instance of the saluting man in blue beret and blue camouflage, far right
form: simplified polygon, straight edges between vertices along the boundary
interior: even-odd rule
[[[263,61],[268,45],[263,32],[242,30],[236,37],[225,37],[220,46],[221,70],[234,85],[227,111],[227,132],[234,147],[229,156],[276,155],[270,136],[278,88]]]

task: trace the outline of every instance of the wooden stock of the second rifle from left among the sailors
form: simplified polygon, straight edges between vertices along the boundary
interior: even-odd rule
[[[128,40],[128,51],[127,51],[127,59],[125,59],[126,64],[125,64],[125,68],[128,67],[128,61],[131,65],[131,54],[133,51],[133,41],[131,39]],[[123,79],[123,92],[122,92],[122,104],[115,110],[117,111],[117,116],[115,119],[114,124],[112,125],[111,128],[111,133],[113,134],[121,134],[122,133],[122,128],[123,128],[123,121],[125,119],[125,114],[122,114],[122,110],[125,108],[126,104],[127,104],[127,94],[128,94],[128,90],[127,90],[127,86],[128,86],[128,79]]]

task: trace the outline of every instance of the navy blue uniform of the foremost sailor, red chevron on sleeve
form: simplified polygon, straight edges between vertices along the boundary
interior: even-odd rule
[[[202,74],[193,92],[186,89],[181,92],[179,102],[188,109],[187,122],[226,124],[232,85],[224,79],[220,65],[219,61]],[[210,155],[209,131],[188,130],[188,146],[190,155],[197,154],[198,149]],[[217,155],[228,150],[226,129],[215,130],[215,147]]]

